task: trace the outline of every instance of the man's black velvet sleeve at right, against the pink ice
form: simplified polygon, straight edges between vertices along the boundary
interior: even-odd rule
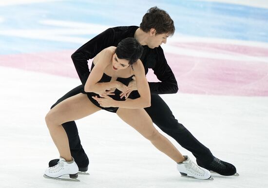
[[[167,63],[163,49],[159,46],[155,48],[157,58],[153,73],[161,82],[149,82],[151,94],[175,94],[178,92],[176,78]]]

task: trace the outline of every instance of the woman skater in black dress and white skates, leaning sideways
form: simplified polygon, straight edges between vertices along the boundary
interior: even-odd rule
[[[58,103],[51,109],[45,121],[60,155],[56,166],[47,168],[45,176],[57,178],[69,174],[77,178],[78,167],[71,156],[68,137],[62,125],[88,116],[101,109],[116,113],[160,151],[177,163],[182,175],[197,179],[209,179],[210,172],[197,166],[188,156],[183,156],[172,143],[160,134],[143,108],[149,107],[151,94],[142,62],[139,60],[143,47],[134,38],[125,38],[117,47],[111,46],[98,53],[84,91]],[[139,98],[128,99],[127,85],[135,76]],[[110,96],[108,96],[109,94]],[[127,98],[127,99],[126,99]]]

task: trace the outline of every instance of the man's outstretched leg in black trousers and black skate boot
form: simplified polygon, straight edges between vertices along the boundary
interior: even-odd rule
[[[233,165],[215,158],[207,147],[175,119],[168,105],[158,94],[151,95],[151,107],[145,108],[145,110],[156,126],[174,138],[183,148],[192,152],[199,166],[222,175],[236,173]]]

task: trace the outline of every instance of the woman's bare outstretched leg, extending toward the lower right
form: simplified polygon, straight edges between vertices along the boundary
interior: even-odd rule
[[[144,109],[119,108],[116,113],[123,121],[150,140],[158,150],[168,155],[176,163],[185,161],[179,150],[153,127],[152,119]]]

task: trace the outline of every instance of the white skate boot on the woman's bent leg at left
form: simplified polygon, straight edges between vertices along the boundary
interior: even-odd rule
[[[45,171],[45,175],[51,178],[57,178],[62,175],[69,174],[70,178],[77,178],[78,166],[73,158],[72,161],[67,162],[64,158],[59,157],[57,165],[49,167]]]

